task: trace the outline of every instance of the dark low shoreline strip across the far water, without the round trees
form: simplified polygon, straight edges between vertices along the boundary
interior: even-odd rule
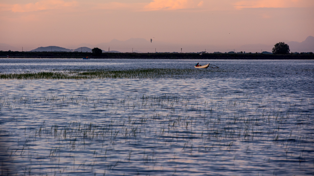
[[[9,57],[7,57],[9,56]],[[314,54],[261,53],[93,53],[82,52],[0,52],[0,58],[93,58],[93,59],[314,59]]]

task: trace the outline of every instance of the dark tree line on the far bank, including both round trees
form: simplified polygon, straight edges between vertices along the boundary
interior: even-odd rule
[[[263,53],[102,53],[100,48],[93,48],[92,53],[82,52],[18,52],[0,51],[0,57],[21,58],[170,58],[170,59],[314,59],[314,54],[289,54],[290,48],[284,42],[276,43],[273,54]]]

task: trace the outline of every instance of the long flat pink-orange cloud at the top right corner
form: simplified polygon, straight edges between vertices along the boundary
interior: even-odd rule
[[[311,7],[313,0],[243,0],[234,4],[236,9],[242,8],[291,8]]]

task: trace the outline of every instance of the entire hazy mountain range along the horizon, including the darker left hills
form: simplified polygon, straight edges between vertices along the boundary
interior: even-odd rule
[[[280,41],[278,41],[280,42]],[[308,36],[303,42],[286,42],[290,47],[290,52],[314,52],[314,37]],[[274,43],[275,44],[275,43]],[[63,52],[91,52],[91,48],[100,48],[103,53],[107,53],[108,50],[110,53],[154,53],[154,52],[178,52],[181,53],[197,53],[201,51],[207,51],[208,53],[214,52],[246,52],[246,53],[261,53],[261,52],[271,52],[274,45],[265,45],[265,44],[246,44],[242,45],[239,48],[232,47],[223,47],[223,46],[214,46],[214,45],[192,45],[192,44],[173,44],[173,43],[165,43],[156,41],[154,38],[152,42],[150,40],[146,40],[144,38],[130,38],[126,41],[120,41],[113,39],[107,43],[99,43],[97,45],[91,45],[88,43],[81,43],[78,46],[72,46],[71,48],[76,49],[67,49],[58,46],[47,46],[47,47],[39,47],[31,50],[32,52],[40,52],[40,51],[63,51]],[[84,47],[83,47],[84,46]],[[28,47],[27,47],[28,48]],[[195,49],[193,49],[195,48]],[[232,49],[228,49],[232,48]],[[207,50],[206,50],[207,49]],[[0,43],[0,50],[3,51],[22,51],[22,47],[13,47],[5,43]],[[26,49],[24,48],[24,51]]]

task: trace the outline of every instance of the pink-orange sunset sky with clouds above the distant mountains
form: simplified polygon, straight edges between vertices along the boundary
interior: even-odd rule
[[[178,48],[273,46],[314,36],[314,1],[1,0],[0,24],[0,50],[6,44],[16,51],[75,49],[130,38],[146,39],[147,47],[151,38]]]

